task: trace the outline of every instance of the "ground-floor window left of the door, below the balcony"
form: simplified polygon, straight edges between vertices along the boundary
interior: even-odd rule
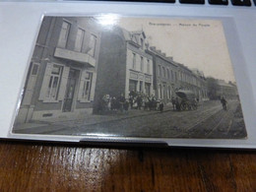
[[[62,66],[53,65],[50,74],[49,84],[47,87],[46,97],[53,98],[55,100],[57,99],[62,70]]]

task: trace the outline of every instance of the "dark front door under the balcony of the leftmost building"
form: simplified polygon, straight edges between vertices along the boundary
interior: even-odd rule
[[[66,87],[66,93],[64,96],[64,104],[62,108],[63,112],[70,112],[72,110],[72,104],[74,100],[76,85],[78,82],[78,76],[79,76],[79,71],[76,69],[70,68],[67,87]]]

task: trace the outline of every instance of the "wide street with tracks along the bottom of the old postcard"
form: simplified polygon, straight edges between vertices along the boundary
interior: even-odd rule
[[[53,135],[163,138],[244,138],[245,125],[237,101],[228,101],[227,111],[221,102],[206,101],[197,110],[173,111],[171,106],[163,112],[132,109],[108,115],[91,115],[86,119],[52,122],[19,133]]]

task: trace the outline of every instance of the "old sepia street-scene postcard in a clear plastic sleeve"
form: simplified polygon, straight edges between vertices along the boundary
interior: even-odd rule
[[[12,134],[246,139],[217,19],[45,16]]]

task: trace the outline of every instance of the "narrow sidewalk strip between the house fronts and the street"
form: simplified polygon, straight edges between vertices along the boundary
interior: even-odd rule
[[[172,110],[172,105],[165,105],[163,112]],[[138,110],[129,109],[128,111],[111,111],[108,114],[88,114],[84,118],[72,120],[59,120],[51,122],[33,121],[32,123],[19,124],[15,127],[15,133],[29,133],[29,134],[46,134],[67,128],[76,128],[79,126],[95,125],[103,122],[121,120],[126,118],[133,118],[139,116],[146,116],[149,114],[160,113],[158,110]]]

